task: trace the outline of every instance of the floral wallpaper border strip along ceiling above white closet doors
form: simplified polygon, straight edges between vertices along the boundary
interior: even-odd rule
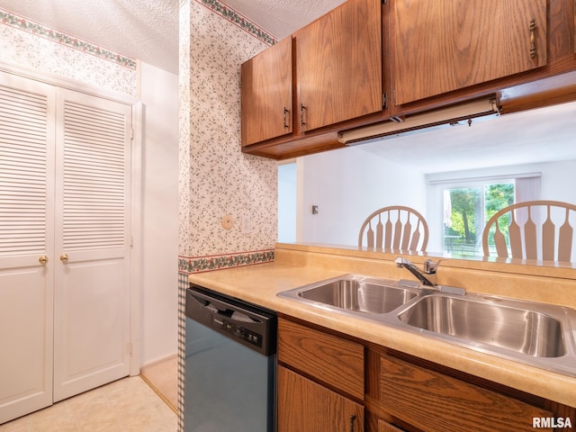
[[[51,29],[45,25],[36,23],[29,20],[28,18],[18,14],[13,14],[12,12],[1,8],[0,23],[22,31],[27,31],[35,36],[51,40],[60,45],[67,46],[68,48],[77,49],[79,51],[85,52],[86,54],[92,54],[95,57],[112,61],[113,63],[116,63],[120,66],[136,70],[136,60],[133,58],[122,56],[121,54],[110,49],[105,49],[98,45],[94,45],[87,40],[82,40],[80,38],[70,36],[63,31]]]

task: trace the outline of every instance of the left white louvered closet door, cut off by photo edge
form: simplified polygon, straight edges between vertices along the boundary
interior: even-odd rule
[[[0,72],[0,423],[52,403],[55,94]]]

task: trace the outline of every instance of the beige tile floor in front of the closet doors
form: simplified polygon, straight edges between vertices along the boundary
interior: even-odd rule
[[[0,425],[0,432],[175,432],[175,411],[139,376]]]

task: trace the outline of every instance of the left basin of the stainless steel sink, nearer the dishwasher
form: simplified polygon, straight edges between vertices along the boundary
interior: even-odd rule
[[[418,293],[393,281],[347,275],[288,292],[288,296],[346,311],[383,314],[410,302]]]

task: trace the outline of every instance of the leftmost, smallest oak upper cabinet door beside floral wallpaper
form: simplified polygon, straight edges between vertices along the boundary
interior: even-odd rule
[[[242,146],[292,132],[292,86],[292,37],[242,64]]]

